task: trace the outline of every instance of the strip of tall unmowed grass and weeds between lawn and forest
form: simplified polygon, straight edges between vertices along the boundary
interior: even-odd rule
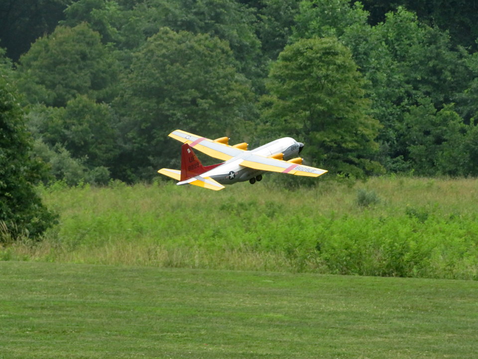
[[[0,259],[478,279],[476,179],[41,192],[60,224]]]

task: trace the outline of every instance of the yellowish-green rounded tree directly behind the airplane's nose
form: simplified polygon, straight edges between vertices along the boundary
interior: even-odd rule
[[[271,68],[262,119],[268,131],[303,140],[314,165],[362,177],[379,168],[369,160],[379,125],[368,115],[363,86],[337,38],[300,39]]]

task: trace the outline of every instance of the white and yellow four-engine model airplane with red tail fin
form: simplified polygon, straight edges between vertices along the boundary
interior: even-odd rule
[[[303,166],[297,157],[304,144],[290,137],[284,137],[252,151],[247,144],[234,146],[228,144],[229,138],[221,137],[209,140],[185,131],[176,130],[169,137],[181,141],[181,170],[161,169],[158,172],[178,180],[177,184],[194,184],[214,190],[224,188],[223,184],[232,184],[248,180],[251,184],[262,179],[264,172],[279,172],[289,175],[319,177],[326,170]],[[203,166],[193,152],[193,148],[208,156],[225,162]]]

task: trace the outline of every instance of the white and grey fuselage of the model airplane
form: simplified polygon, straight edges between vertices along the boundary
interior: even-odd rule
[[[258,171],[247,167],[240,166],[243,160],[247,160],[250,154],[270,157],[279,153],[283,154],[284,160],[290,160],[299,154],[300,145],[297,141],[290,137],[284,137],[252,151],[244,151],[240,156],[234,157],[226,161],[222,165],[202,174],[202,177],[211,177],[221,184],[233,184],[236,182],[246,181],[261,175],[264,171]]]

